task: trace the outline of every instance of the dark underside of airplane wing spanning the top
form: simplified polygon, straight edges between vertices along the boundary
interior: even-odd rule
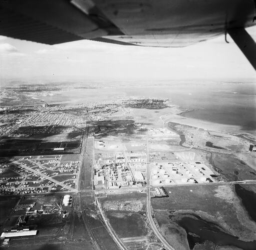
[[[182,47],[228,32],[243,50],[255,42],[235,30],[253,25],[254,16],[254,0],[2,0],[0,34],[47,44]]]

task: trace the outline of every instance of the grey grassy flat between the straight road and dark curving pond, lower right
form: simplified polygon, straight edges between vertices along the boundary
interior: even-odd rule
[[[241,240],[256,239],[256,223],[241,204],[234,185],[176,186],[166,190],[169,197],[152,199],[152,206],[157,212],[167,212],[166,222],[162,219],[166,226],[173,223],[169,216],[181,219],[185,214],[194,214]]]

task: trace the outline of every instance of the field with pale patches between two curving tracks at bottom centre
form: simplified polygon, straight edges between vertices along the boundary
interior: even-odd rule
[[[99,197],[104,214],[128,249],[161,249],[146,216],[146,193],[131,192]],[[150,248],[149,248],[150,249]]]

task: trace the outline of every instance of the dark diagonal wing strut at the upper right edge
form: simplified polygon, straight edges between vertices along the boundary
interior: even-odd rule
[[[256,70],[256,44],[244,27],[227,29],[228,34]]]

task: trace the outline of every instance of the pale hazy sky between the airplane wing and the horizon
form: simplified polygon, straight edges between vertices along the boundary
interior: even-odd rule
[[[247,28],[255,40],[256,27]],[[182,48],[125,46],[90,40],[56,45],[0,36],[0,80],[255,79],[231,37]]]

